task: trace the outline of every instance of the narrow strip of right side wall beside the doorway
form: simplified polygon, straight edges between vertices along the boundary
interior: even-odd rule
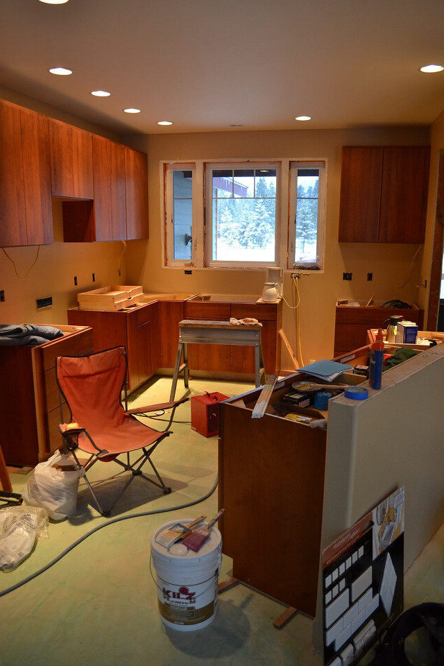
[[[429,305],[429,281],[432,269],[432,247],[434,237],[435,215],[436,215],[436,186],[438,182],[438,160],[439,152],[444,150],[444,111],[436,118],[430,126],[430,179],[429,200],[427,205],[427,226],[425,230],[425,245],[422,255],[421,275],[427,278],[427,289],[420,289],[419,304],[427,310]],[[427,316],[425,317],[427,321]]]

